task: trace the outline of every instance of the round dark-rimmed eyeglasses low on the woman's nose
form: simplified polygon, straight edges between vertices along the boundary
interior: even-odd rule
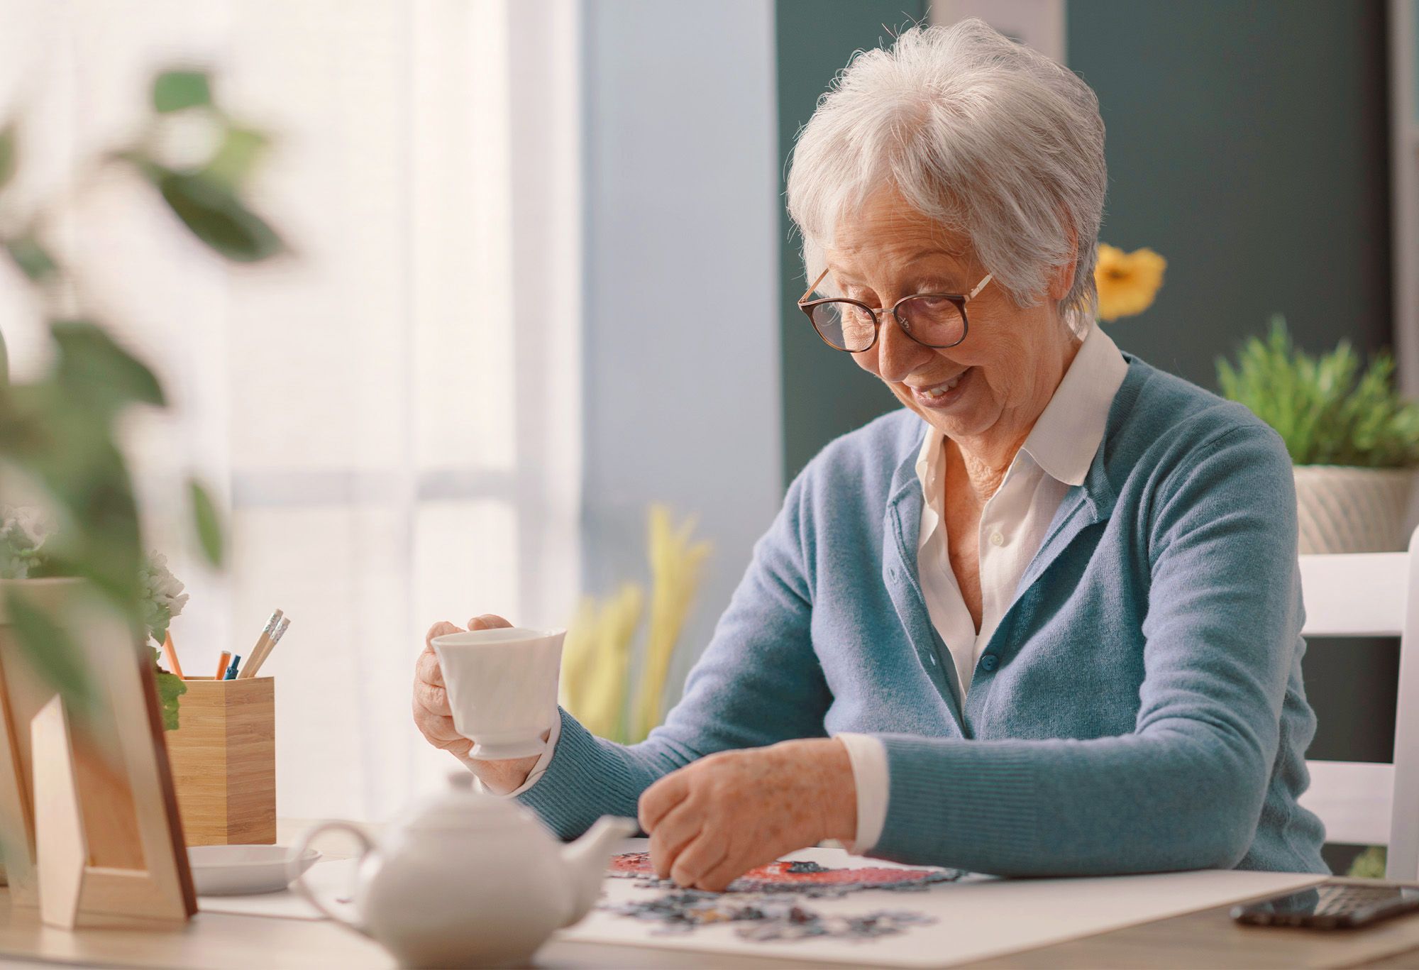
[[[834,350],[847,353],[870,350],[881,330],[878,313],[888,311],[873,309],[867,303],[841,296],[810,301],[809,296],[826,275],[827,269],[799,296],[799,309],[807,313],[823,343]],[[986,274],[969,294],[915,294],[898,299],[890,312],[901,332],[917,343],[938,349],[954,347],[966,339],[966,332],[971,329],[966,320],[966,303],[985,289],[990,275]]]

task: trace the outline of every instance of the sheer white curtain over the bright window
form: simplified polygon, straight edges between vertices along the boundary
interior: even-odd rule
[[[173,61],[210,65],[223,105],[275,138],[253,199],[291,260],[220,265],[128,177],[71,199],[57,242],[175,404],[131,441],[152,545],[193,593],[173,624],[187,672],[285,610],[264,668],[278,811],[387,815],[455,767],[409,715],[427,625],[565,623],[576,596],[579,6],[0,9],[23,203],[129,133]],[[0,269],[20,376],[41,353],[26,299]],[[228,505],[221,576],[187,554],[189,468]]]

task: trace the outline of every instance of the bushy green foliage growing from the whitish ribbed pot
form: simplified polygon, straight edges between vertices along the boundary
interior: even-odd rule
[[[1296,349],[1280,315],[1264,340],[1242,345],[1235,364],[1218,359],[1223,397],[1276,428],[1294,465],[1419,465],[1419,404],[1399,394],[1393,373],[1385,352],[1361,373],[1348,340],[1321,357]]]

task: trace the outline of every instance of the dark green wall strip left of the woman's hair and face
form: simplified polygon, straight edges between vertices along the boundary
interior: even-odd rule
[[[925,0],[778,0],[779,166],[833,75],[860,48],[880,47],[924,20]],[[782,187],[782,186],[780,186]],[[783,261],[783,484],[837,435],[898,407],[897,398],[846,353],[824,345],[796,301],[807,286],[799,240],[780,211]]]

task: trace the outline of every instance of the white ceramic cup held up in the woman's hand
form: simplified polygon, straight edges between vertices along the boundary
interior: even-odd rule
[[[565,630],[499,627],[434,637],[453,726],[474,742],[468,757],[542,753],[558,718]]]

